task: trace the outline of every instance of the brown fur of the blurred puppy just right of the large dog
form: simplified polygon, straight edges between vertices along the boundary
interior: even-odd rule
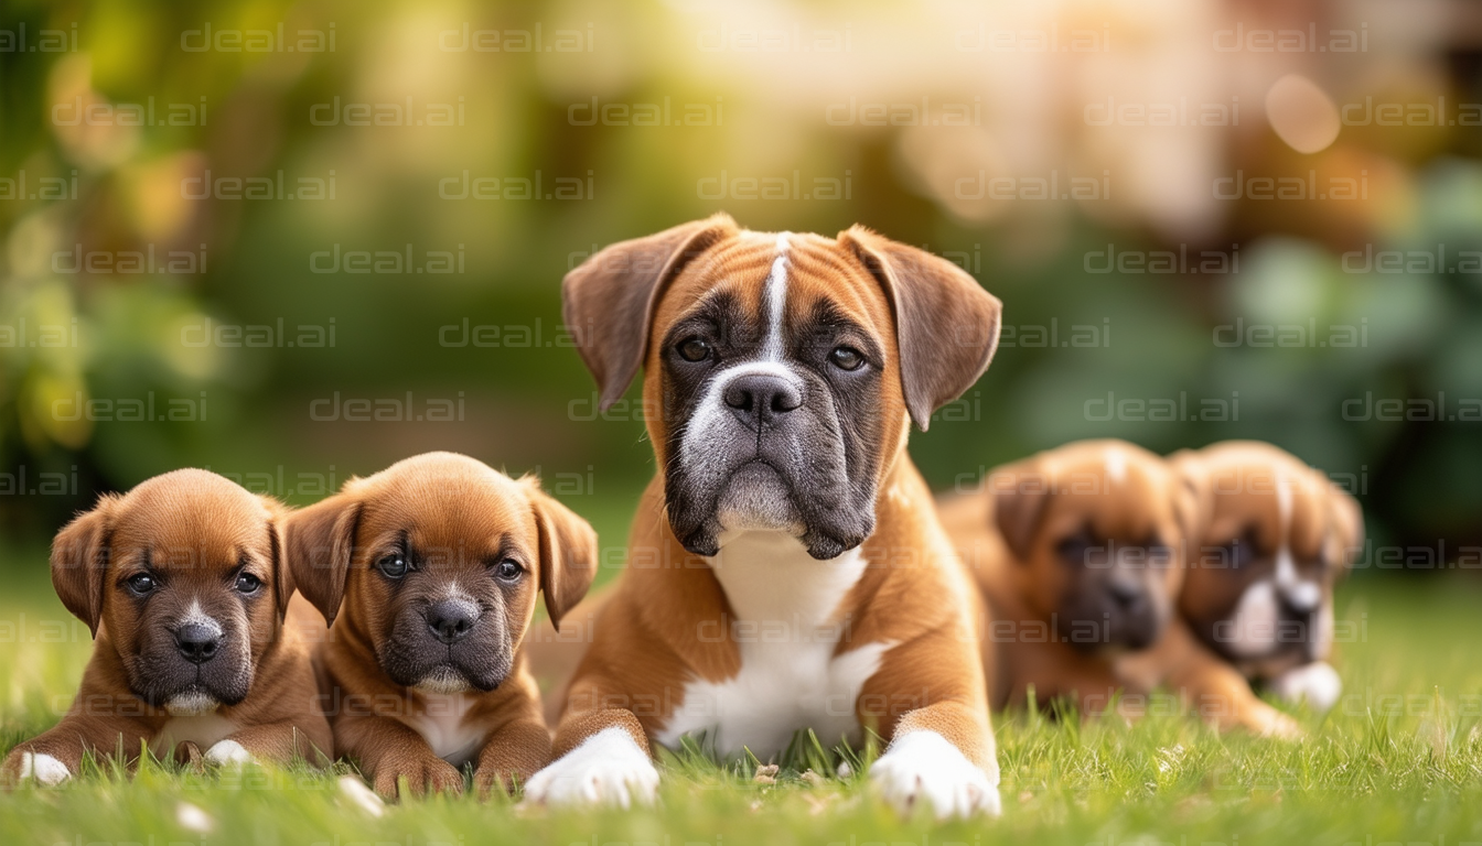
[[[1125,458],[1122,480],[1106,470],[1109,449]],[[1069,444],[994,470],[984,490],[946,496],[940,514],[997,624],[984,643],[994,705],[1023,705],[1033,689],[1040,702],[1070,696],[1082,713],[1101,713],[1117,695],[1168,686],[1221,727],[1297,732],[1171,613],[1199,510],[1193,492],[1156,455],[1125,442]],[[1100,538],[1129,544],[1157,536],[1174,551],[1175,566],[1149,573],[1169,619],[1146,649],[1088,650],[1057,637],[1051,621],[1063,613],[1061,597],[1074,579],[1092,578],[1060,560],[1057,544],[1086,524]],[[1138,711],[1135,698],[1120,702],[1123,716]]]

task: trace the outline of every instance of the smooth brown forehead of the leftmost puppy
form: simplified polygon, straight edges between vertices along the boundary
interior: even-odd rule
[[[114,554],[148,553],[160,570],[231,569],[243,556],[271,556],[270,514],[228,479],[179,470],[144,482],[119,504]]]

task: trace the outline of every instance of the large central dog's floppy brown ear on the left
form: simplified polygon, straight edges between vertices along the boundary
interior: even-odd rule
[[[602,410],[622,399],[643,364],[654,307],[665,284],[695,256],[735,233],[735,221],[719,213],[615,243],[566,274],[562,317],[597,379]]]

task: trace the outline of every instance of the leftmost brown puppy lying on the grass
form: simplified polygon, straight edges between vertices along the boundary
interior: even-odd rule
[[[323,763],[332,741],[304,634],[316,627],[307,603],[289,602],[285,511],[215,473],[176,470],[68,523],[52,584],[92,630],[93,653],[71,710],[10,751],[4,782],[62,782],[89,751],[132,763],[141,742],[181,759],[193,744],[209,763]]]

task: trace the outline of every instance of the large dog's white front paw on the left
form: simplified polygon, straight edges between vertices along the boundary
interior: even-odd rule
[[[525,799],[548,805],[652,805],[658,770],[624,729],[602,729],[531,776]]]

